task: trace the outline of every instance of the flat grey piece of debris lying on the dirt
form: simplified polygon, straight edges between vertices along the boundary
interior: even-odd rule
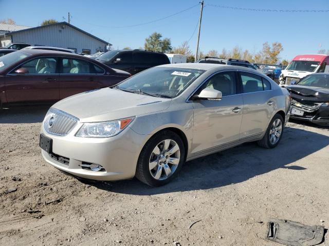
[[[267,240],[287,246],[313,246],[322,242],[324,227],[281,219],[270,219],[267,223]]]

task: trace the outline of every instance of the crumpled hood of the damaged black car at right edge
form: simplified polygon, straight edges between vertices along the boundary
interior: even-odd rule
[[[291,97],[299,100],[315,101],[318,103],[326,103],[329,101],[329,89],[313,87],[313,86],[286,86]]]

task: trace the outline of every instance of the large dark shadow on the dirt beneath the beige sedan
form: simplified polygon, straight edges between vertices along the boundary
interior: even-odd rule
[[[254,176],[285,168],[303,172],[304,167],[291,165],[329,145],[329,137],[296,128],[285,128],[277,148],[263,149],[254,142],[189,161],[176,179],[163,187],[149,187],[138,181],[93,182],[99,189],[133,195],[205,190],[246,181]]]

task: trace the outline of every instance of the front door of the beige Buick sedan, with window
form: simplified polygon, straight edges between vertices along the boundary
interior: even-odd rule
[[[196,91],[210,87],[221,91],[221,100],[195,99],[192,154],[239,140],[243,98],[237,88],[235,71],[216,73]]]

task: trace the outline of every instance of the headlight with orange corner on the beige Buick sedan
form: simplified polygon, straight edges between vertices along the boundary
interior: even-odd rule
[[[135,117],[84,123],[76,133],[77,137],[113,137],[125,129]]]

